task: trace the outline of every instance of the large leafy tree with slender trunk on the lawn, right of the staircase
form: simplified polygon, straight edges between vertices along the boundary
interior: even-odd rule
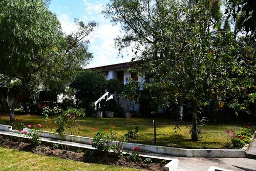
[[[219,1],[112,0],[104,14],[120,23],[125,34],[116,39],[121,51],[132,45],[141,60],[138,73],[144,89],[168,104],[173,97],[190,101],[191,138],[198,140],[198,106],[234,91],[244,70],[232,32],[221,28]],[[206,98],[207,96],[210,96]]]

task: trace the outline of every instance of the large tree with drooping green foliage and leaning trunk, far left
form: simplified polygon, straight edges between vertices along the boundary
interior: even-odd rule
[[[20,87],[14,95],[10,121],[18,96],[28,85],[49,87],[53,80],[70,81],[75,70],[92,58],[89,35],[95,22],[84,25],[76,20],[78,31],[65,35],[49,1],[4,0],[0,2],[0,74]]]

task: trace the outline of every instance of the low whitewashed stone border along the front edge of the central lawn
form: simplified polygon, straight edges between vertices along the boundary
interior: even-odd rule
[[[29,132],[30,129],[24,129],[23,131]],[[255,133],[254,133],[254,136],[255,136]],[[41,137],[60,139],[60,136],[58,134],[52,133],[52,132],[42,132]],[[72,141],[72,142],[83,143],[83,144],[92,144],[91,141],[93,140],[93,138],[63,135],[61,137],[61,140]],[[249,144],[242,149],[186,149],[186,148],[145,145],[145,144],[137,144],[137,143],[126,143],[125,149],[133,150],[134,147],[139,147],[142,152],[167,154],[167,155],[180,156],[180,157],[244,158],[246,157],[246,151],[249,147]]]

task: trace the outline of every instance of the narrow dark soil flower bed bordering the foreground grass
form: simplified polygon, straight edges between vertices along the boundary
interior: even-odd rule
[[[162,171],[163,166],[160,163],[146,164],[145,162],[132,162],[126,160],[125,156],[118,157],[111,153],[102,153],[99,151],[86,151],[85,153],[77,151],[69,151],[66,149],[52,149],[50,146],[39,145],[35,146],[33,144],[24,142],[14,142],[2,140],[0,141],[0,146],[4,148],[13,148],[26,152],[32,152],[35,154],[41,154],[51,157],[60,157],[62,159],[70,159],[75,161],[82,161],[87,163],[99,163],[108,164],[122,167],[134,167],[142,168],[147,170],[157,170]]]

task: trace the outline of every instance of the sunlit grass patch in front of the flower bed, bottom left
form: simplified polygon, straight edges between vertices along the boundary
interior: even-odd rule
[[[0,147],[0,170],[140,170],[48,157]]]

